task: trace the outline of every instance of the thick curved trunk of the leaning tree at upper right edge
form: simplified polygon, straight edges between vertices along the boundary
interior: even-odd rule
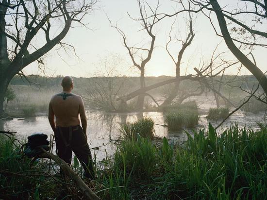
[[[253,64],[250,59],[239,50],[227,29],[227,24],[225,18],[223,16],[222,10],[220,5],[218,4],[217,0],[210,0],[210,4],[212,5],[214,12],[216,13],[217,20],[219,23],[219,27],[221,33],[223,35],[223,39],[228,47],[229,50],[232,51],[234,56],[253,74],[253,76],[259,81],[260,85],[262,86],[265,94],[267,95],[267,77],[266,75],[255,65]]]

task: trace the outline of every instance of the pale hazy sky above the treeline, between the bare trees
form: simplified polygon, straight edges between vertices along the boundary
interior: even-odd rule
[[[156,0],[147,1],[152,8],[156,5]],[[241,4],[236,0],[236,3]],[[229,8],[235,6],[233,0],[219,0],[221,6],[227,5]],[[232,3],[232,5],[231,5]],[[160,0],[160,7],[158,13],[174,13],[179,9],[177,4],[170,0]],[[70,75],[74,77],[92,77],[106,75],[111,69],[113,75],[125,76],[138,76],[139,71],[133,67],[133,63],[127,53],[126,48],[123,46],[122,38],[116,29],[110,26],[107,16],[113,24],[123,30],[127,36],[127,43],[129,46],[139,43],[139,46],[149,43],[149,37],[142,30],[139,21],[131,19],[127,13],[136,18],[139,16],[138,4],[136,0],[101,0],[97,4],[97,8],[84,18],[84,22],[88,28],[82,25],[75,24],[75,28],[71,29],[64,42],[72,45],[75,48],[76,56],[72,50],[67,53],[64,50],[51,50],[44,58],[45,69],[44,72],[47,76],[56,75]],[[216,54],[224,52],[222,58],[226,60],[234,60],[234,56],[227,49],[222,38],[217,36],[214,32],[209,19],[202,14],[193,15],[195,19],[193,22],[193,29],[195,38],[192,44],[185,50],[181,75],[194,74],[194,67],[199,67],[200,60],[203,59],[204,63],[209,63],[213,50],[217,47]],[[214,23],[217,19],[213,16]],[[165,18],[158,22],[153,28],[153,33],[156,34],[156,48],[153,51],[150,62],[146,65],[146,76],[175,76],[175,65],[167,54],[165,49],[168,41],[168,34],[171,24],[174,22],[175,17]],[[186,14],[179,14],[174,23],[172,35],[177,35],[178,39],[186,37]],[[267,31],[267,24],[261,25]],[[169,46],[169,50],[177,57],[177,53],[181,48],[181,42],[173,41]],[[263,71],[267,70],[267,49],[256,48],[254,56],[257,60],[257,65]],[[144,56],[144,54],[143,54]],[[136,58],[138,60],[138,58]],[[140,62],[138,62],[140,63]],[[226,73],[235,74],[237,67],[232,67]],[[44,75],[43,71],[36,67],[36,64],[31,64],[23,69],[26,74],[40,74]],[[242,74],[250,74],[247,70],[242,70]]]

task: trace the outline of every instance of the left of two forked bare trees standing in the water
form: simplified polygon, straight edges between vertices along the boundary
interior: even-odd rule
[[[134,19],[132,17],[131,18],[133,20],[137,20],[137,21],[141,22],[142,30],[144,30],[151,39],[149,48],[144,48],[143,46],[142,47],[130,46],[127,42],[126,34],[120,28],[118,28],[117,25],[116,26],[112,25],[111,21],[110,21],[110,23],[111,23],[111,26],[116,28],[117,32],[120,33],[120,35],[122,36],[123,44],[126,47],[126,49],[128,50],[128,53],[132,59],[134,67],[137,67],[140,70],[140,89],[142,89],[146,86],[145,67],[146,67],[146,64],[150,61],[151,56],[152,56],[152,52],[154,50],[154,44],[155,44],[156,36],[154,35],[154,33],[152,33],[152,31],[153,31],[153,27],[154,27],[154,24],[156,21],[157,10],[159,7],[159,0],[157,2],[156,8],[154,10],[149,5],[146,6],[144,1],[137,0],[137,2],[138,2],[138,6],[139,6],[140,17],[138,19]],[[150,9],[151,13],[154,16],[151,19],[148,18],[146,7],[148,7]],[[141,53],[140,53],[141,59],[140,59],[140,62],[138,62],[136,57],[137,57],[137,53],[139,53],[140,51],[141,51]],[[146,56],[143,57],[144,52],[147,52],[147,53],[146,53]],[[143,109],[145,96],[146,96],[145,93],[138,95],[136,109]]]

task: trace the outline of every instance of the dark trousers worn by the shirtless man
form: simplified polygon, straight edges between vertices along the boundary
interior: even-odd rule
[[[85,177],[95,179],[92,154],[80,125],[56,127],[55,141],[57,153],[60,158],[70,165],[73,151],[83,166]]]

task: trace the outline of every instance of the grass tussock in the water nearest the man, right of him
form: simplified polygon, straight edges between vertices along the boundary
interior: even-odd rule
[[[154,121],[150,117],[137,120],[134,123],[126,123],[120,126],[120,133],[125,139],[136,139],[137,133],[141,137],[153,138],[154,136]]]

